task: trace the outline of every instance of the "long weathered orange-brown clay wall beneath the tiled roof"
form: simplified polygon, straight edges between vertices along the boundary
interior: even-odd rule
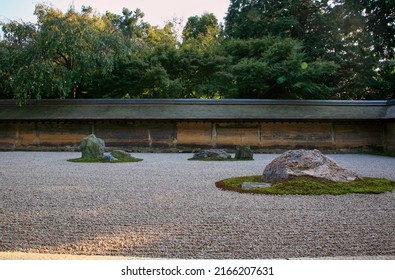
[[[0,149],[78,149],[91,133],[106,146],[130,150],[249,145],[256,150],[388,150],[395,124],[382,122],[32,121],[0,122]]]

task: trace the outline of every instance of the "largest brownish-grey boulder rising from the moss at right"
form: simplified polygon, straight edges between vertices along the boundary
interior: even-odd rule
[[[264,182],[276,183],[298,177],[313,177],[334,182],[350,182],[357,174],[339,166],[318,150],[291,150],[269,163],[263,171]]]

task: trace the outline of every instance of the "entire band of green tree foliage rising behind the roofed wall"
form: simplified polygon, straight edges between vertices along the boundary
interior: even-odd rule
[[[395,98],[392,0],[231,0],[152,26],[144,13],[63,13],[1,23],[0,98]]]

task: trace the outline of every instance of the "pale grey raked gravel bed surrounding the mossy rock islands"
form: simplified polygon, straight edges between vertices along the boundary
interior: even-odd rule
[[[0,251],[142,258],[393,256],[395,191],[266,196],[214,183],[258,175],[254,161],[71,163],[80,153],[0,153]],[[395,158],[329,155],[360,176],[395,180]]]

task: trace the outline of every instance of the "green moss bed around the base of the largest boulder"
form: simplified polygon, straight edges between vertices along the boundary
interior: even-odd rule
[[[353,182],[317,181],[311,178],[294,179],[262,189],[243,190],[243,182],[261,182],[261,176],[234,177],[219,181],[216,186],[226,190],[259,194],[341,195],[347,193],[378,194],[395,189],[395,182],[379,178],[359,178]]]

